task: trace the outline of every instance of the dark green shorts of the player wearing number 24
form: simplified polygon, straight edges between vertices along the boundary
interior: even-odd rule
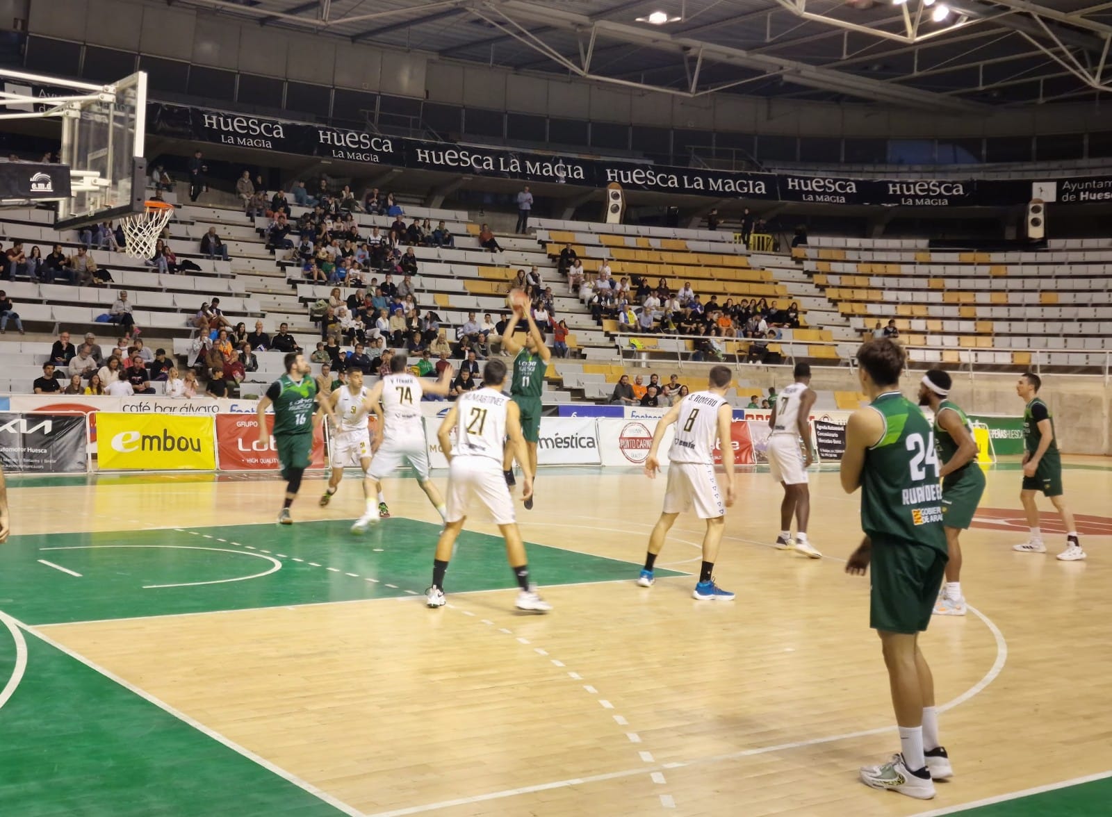
[[[944,550],[873,537],[868,626],[885,632],[922,632],[931,622],[946,569]]]

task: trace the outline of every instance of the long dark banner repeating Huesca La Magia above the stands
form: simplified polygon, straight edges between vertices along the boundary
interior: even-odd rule
[[[148,104],[147,128],[163,137],[296,156],[579,187],[618,182],[629,190],[686,196],[893,207],[1009,206],[1032,197],[1032,182],[1024,180],[863,179],[678,168],[404,139],[163,102]],[[1105,196],[1112,190],[1112,179],[1070,182],[1103,188]]]

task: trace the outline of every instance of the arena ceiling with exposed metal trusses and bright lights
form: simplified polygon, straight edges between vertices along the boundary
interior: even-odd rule
[[[1098,0],[176,1],[259,26],[685,97],[973,111],[1112,89],[1112,2]],[[648,22],[653,12],[667,21]]]

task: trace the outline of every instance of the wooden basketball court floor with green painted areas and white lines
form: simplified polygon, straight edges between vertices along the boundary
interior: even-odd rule
[[[1066,459],[1084,562],[1013,552],[1020,474],[989,474],[964,537],[975,609],[924,636],[955,767],[930,803],[856,780],[898,744],[833,470],[812,474],[817,561],[768,546],[780,488],[738,475],[732,604],[691,598],[694,518],[634,585],[663,480],[542,472],[518,518],[544,617],[513,609],[478,520],[449,606],[425,608],[438,525],[411,479],[354,537],[350,474],[327,508],[307,480],[291,528],[274,480],[13,478],[0,814],[1108,815],[1112,462]]]

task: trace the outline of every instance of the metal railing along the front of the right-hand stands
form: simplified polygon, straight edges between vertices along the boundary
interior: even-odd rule
[[[745,366],[749,365],[747,362],[747,352],[749,347],[756,341],[749,338],[722,338],[718,336],[707,336],[707,335],[668,335],[668,333],[653,333],[653,332],[624,332],[618,331],[612,336],[613,340],[617,346],[618,359],[625,362],[629,360],[631,362],[641,362],[648,360],[672,360],[673,355],[675,356],[676,365],[683,369],[685,362],[722,362],[722,363],[734,363],[737,371],[744,370]],[[656,341],[655,347],[635,348],[628,342],[632,339],[645,339],[648,341]],[[661,348],[659,341],[671,340],[675,341],[671,345],[672,348]],[[687,348],[687,341],[694,341],[698,343],[699,341],[714,340],[716,343],[728,349],[729,345],[744,345],[745,351],[725,351],[722,353],[721,360],[703,360],[694,361],[693,357],[697,351]],[[665,345],[667,347],[669,345]],[[830,363],[823,362],[812,362],[813,366],[827,368],[841,368],[848,367],[854,369],[856,367],[856,361],[852,355],[843,356],[838,352],[838,347],[853,346],[854,349],[857,348],[858,341],[856,340],[798,340],[792,338],[778,338],[768,339],[766,343],[767,347],[772,348],[774,351],[778,351],[781,355],[781,362],[778,363],[764,363],[763,366],[794,366],[796,360],[807,360],[807,361],[825,361],[828,360]],[[814,357],[808,353],[808,347],[831,347],[834,349],[835,358],[826,357]],[[1024,368],[1034,371],[1035,373],[1042,373],[1043,367],[1054,367],[1055,369],[1099,369],[1100,373],[1093,373],[1092,371],[1071,371],[1071,375],[1079,375],[1085,377],[1101,377],[1104,383],[1110,382],[1110,376],[1112,376],[1112,350],[1109,349],[1032,349],[1032,348],[1000,348],[1000,347],[972,347],[972,346],[940,346],[940,345],[915,345],[915,346],[904,346],[907,351],[907,368],[909,369],[926,369],[932,366],[951,367],[954,366],[956,371],[966,372],[972,379],[980,369],[981,371],[987,370],[990,367],[1012,367],[1012,368]],[[930,352],[931,359],[923,359],[923,356],[916,355],[916,352]],[[937,353],[935,357],[934,353]],[[953,353],[957,353],[957,360],[952,359]],[[1016,363],[1014,362],[1014,355],[1030,355],[1030,363]],[[982,355],[1007,355],[1010,360],[1007,362],[995,362],[992,360],[981,360],[979,359]],[[1051,356],[1052,355],[1086,355],[1089,359],[1098,359],[1099,363],[1066,363],[1056,362]],[[951,359],[946,359],[947,356]],[[733,358],[733,361],[731,361]],[[956,363],[956,365],[955,365]]]

